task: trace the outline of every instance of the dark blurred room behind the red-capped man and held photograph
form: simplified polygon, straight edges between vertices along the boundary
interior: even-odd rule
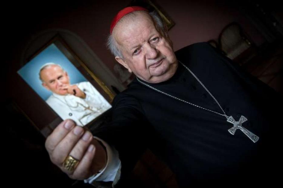
[[[238,63],[244,71],[283,94],[283,11],[279,1],[151,2],[175,23],[169,30],[174,50],[207,41]],[[98,77],[113,93],[125,89],[127,83],[119,79],[115,59],[105,47],[105,41],[112,18],[131,3],[137,2],[2,2],[4,181],[18,186],[89,186],[69,179],[50,162],[44,148],[48,133],[44,133],[43,127],[54,126],[61,120],[16,72],[46,41],[60,34],[81,59],[84,59],[84,52],[76,49],[78,42],[74,40],[78,40],[104,64],[107,74],[112,75],[112,81],[104,80],[104,73]],[[44,106],[42,111],[35,110],[41,109],[41,106]],[[50,122],[50,116],[55,120]],[[137,164],[133,180],[143,181],[148,187],[176,186],[174,175],[150,151]]]

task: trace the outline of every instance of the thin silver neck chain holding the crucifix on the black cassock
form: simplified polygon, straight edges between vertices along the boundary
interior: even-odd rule
[[[181,61],[179,61],[179,63],[181,63]],[[187,66],[185,66],[183,63],[181,63],[181,64],[195,77],[195,79],[201,84],[201,86],[202,86],[202,87],[208,92],[208,94],[215,100],[215,102],[218,104],[218,106],[220,107],[220,109],[222,110],[222,112],[223,112],[224,114],[220,114],[220,113],[215,112],[215,111],[213,111],[213,110],[206,109],[206,108],[204,108],[204,107],[195,105],[195,104],[193,104],[193,103],[191,103],[191,102],[187,102],[187,101],[185,101],[185,100],[179,99],[178,97],[175,97],[175,96],[172,96],[172,95],[170,95],[170,94],[168,94],[168,93],[165,93],[165,92],[163,92],[163,91],[160,91],[160,90],[158,90],[158,89],[156,89],[156,88],[154,88],[154,87],[152,87],[152,86],[150,86],[150,85],[148,85],[148,84],[142,82],[138,77],[137,77],[137,80],[138,80],[141,84],[143,84],[143,85],[149,87],[150,89],[153,89],[153,90],[155,90],[155,91],[157,91],[157,92],[160,92],[160,93],[162,93],[162,94],[164,94],[164,95],[166,95],[166,96],[169,96],[169,97],[171,97],[171,98],[173,98],[173,99],[176,99],[176,100],[178,100],[178,101],[185,102],[185,103],[187,103],[187,104],[196,106],[196,107],[198,107],[198,108],[207,110],[207,111],[209,111],[209,112],[213,112],[213,113],[215,113],[215,114],[224,116],[225,118],[228,119],[228,116],[226,115],[226,113],[225,113],[224,110],[222,109],[222,107],[221,107],[221,105],[219,104],[219,102],[218,102],[218,101],[215,99],[215,97],[211,94],[211,92],[208,91],[208,89],[205,87],[205,85],[203,85],[203,83],[201,83],[201,81],[198,79],[198,77],[195,76],[195,74],[194,74]]]

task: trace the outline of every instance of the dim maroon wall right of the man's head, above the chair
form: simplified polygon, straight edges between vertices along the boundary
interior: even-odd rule
[[[160,1],[161,2],[161,1]],[[228,1],[162,1],[162,7],[175,21],[176,25],[169,31],[170,37],[178,50],[188,44],[214,39],[218,41],[221,30],[236,21],[260,45],[264,38]]]

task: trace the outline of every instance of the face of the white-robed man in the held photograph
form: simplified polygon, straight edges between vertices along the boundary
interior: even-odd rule
[[[58,95],[66,95],[66,86],[70,85],[68,74],[60,66],[51,65],[43,69],[40,73],[42,86]]]

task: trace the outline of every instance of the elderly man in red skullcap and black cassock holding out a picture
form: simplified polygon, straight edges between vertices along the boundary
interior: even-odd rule
[[[52,162],[71,178],[121,185],[149,147],[180,187],[279,180],[273,173],[281,164],[275,105],[282,103],[272,89],[206,43],[174,53],[160,18],[141,7],[116,15],[108,45],[137,78],[115,97],[113,122],[94,138],[84,139],[71,121],[48,137]]]

